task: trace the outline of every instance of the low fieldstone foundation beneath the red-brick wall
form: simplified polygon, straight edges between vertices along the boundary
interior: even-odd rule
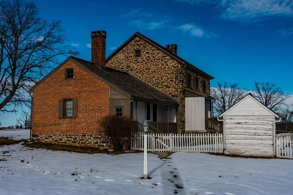
[[[105,134],[33,134],[33,141],[65,145],[110,148],[110,141]]]

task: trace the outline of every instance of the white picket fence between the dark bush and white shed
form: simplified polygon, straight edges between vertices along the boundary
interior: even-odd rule
[[[131,150],[144,150],[144,133],[136,133]],[[223,134],[147,134],[149,152],[223,153]]]

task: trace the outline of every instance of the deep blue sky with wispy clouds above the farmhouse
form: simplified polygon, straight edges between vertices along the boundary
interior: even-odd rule
[[[136,31],[217,82],[274,82],[293,94],[292,0],[31,0],[46,20],[62,20],[68,44],[90,60],[90,31],[107,32],[106,55]],[[64,58],[60,58],[62,61]],[[0,115],[4,126],[15,114]]]

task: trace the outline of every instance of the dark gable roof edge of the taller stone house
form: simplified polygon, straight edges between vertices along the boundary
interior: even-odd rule
[[[158,44],[157,42],[148,39],[146,36],[140,34],[139,32],[134,33],[134,35],[132,35],[129,39],[127,39],[120,47],[118,47],[112,54],[110,54],[107,58],[106,58],[106,62],[108,60],[110,60],[112,57],[114,57],[121,49],[123,49],[132,39],[134,39],[135,37],[139,37],[141,39],[144,39],[146,42],[148,42],[149,44],[153,45],[154,47],[158,48],[159,50],[163,51],[164,53],[166,53],[168,56],[172,57],[173,59],[178,60],[179,62],[181,62],[182,64],[186,65],[188,68],[195,70],[196,72],[210,78],[213,79],[212,76],[210,76],[209,74],[205,73],[204,71],[200,70],[199,68],[195,67],[194,65],[192,65],[191,63],[189,63],[188,61],[180,58],[179,56],[173,54],[172,52],[170,52],[168,49],[166,49],[165,47],[163,47],[162,45]]]

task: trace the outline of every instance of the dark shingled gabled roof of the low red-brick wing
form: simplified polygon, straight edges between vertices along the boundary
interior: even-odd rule
[[[109,86],[117,89],[118,91],[124,93],[128,97],[138,98],[138,99],[149,99],[152,101],[166,102],[169,104],[177,104],[177,100],[169,97],[163,92],[155,89],[154,87],[146,84],[142,80],[135,78],[134,76],[114,70],[112,68],[103,68],[96,63],[86,61],[84,59],[79,59],[76,57],[69,57],[57,68],[55,68],[50,74],[43,78],[39,83],[37,83],[31,91],[33,91],[43,80],[52,75],[58,68],[60,68],[67,61],[72,61],[76,65],[83,68],[85,71],[89,72],[96,78],[99,78],[103,82],[107,83]]]

